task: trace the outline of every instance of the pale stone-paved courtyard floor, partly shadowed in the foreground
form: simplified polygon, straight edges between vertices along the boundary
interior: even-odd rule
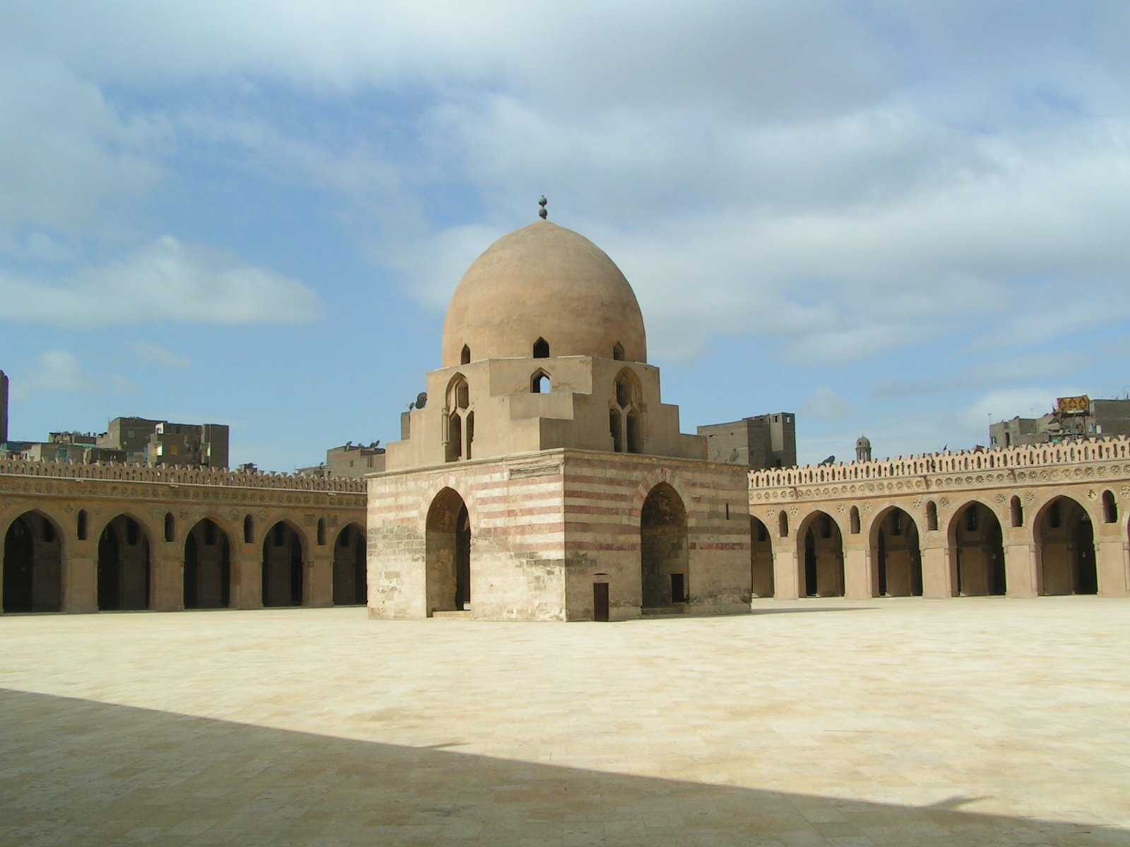
[[[1130,845],[1130,602],[0,618],[2,845]]]

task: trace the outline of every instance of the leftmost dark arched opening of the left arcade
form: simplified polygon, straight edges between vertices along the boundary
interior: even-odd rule
[[[3,611],[62,609],[62,541],[51,518],[25,512],[3,539]]]

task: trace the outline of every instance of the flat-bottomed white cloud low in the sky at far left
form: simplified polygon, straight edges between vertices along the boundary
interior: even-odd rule
[[[321,315],[318,295],[297,280],[169,235],[62,282],[0,271],[0,318],[7,320],[110,326],[162,321],[307,323]]]

